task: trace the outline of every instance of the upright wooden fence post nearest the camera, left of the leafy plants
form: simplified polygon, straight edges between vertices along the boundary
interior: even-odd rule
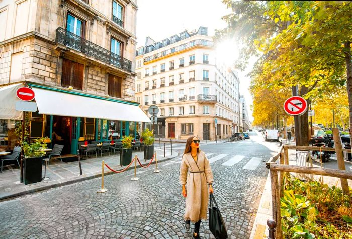
[[[270,181],[272,187],[273,217],[277,223],[276,239],[282,239],[280,195],[278,191],[278,172],[270,169]]]

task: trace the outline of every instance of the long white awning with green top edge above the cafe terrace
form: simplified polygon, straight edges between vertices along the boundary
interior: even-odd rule
[[[150,122],[144,111],[131,102],[32,84],[30,86],[35,92],[35,101],[40,114]]]

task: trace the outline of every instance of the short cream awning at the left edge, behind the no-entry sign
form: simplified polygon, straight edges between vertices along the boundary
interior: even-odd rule
[[[0,118],[7,120],[22,120],[22,111],[15,109],[17,89],[23,84],[13,84],[0,88]]]

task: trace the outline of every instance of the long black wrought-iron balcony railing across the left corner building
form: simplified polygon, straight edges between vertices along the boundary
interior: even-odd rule
[[[63,44],[105,63],[131,72],[132,62],[61,27],[56,29],[56,43]]]

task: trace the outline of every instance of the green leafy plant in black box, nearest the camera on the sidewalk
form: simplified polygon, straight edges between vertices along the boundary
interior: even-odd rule
[[[45,155],[47,138],[39,138],[33,143],[22,142],[25,158],[23,161],[23,182],[24,184],[42,181],[42,160]]]

